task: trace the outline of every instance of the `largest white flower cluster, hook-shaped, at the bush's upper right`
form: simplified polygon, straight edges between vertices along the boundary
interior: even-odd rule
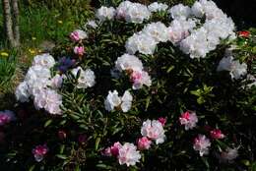
[[[206,17],[205,24],[198,29],[191,30],[191,34],[180,42],[180,49],[191,58],[206,57],[214,50],[222,39],[235,36],[234,24],[213,1],[200,0],[192,8],[182,5],[170,9],[173,19],[187,19],[189,17]]]

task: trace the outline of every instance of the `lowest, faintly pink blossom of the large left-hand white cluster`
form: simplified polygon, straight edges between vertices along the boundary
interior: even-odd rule
[[[42,88],[34,94],[33,104],[36,109],[44,108],[50,114],[60,115],[62,96],[53,89]]]

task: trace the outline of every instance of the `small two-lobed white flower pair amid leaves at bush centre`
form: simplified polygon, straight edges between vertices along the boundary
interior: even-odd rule
[[[108,91],[108,95],[104,101],[104,106],[107,111],[121,109],[123,112],[128,112],[132,107],[133,96],[126,90],[122,97],[118,96],[117,90]]]

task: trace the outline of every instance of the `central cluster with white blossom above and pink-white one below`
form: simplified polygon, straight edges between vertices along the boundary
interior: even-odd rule
[[[125,71],[130,76],[133,89],[142,88],[143,85],[152,85],[151,77],[144,71],[141,60],[134,55],[124,54],[118,57],[115,61],[115,70]]]

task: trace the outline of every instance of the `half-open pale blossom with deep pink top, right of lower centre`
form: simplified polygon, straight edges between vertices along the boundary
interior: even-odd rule
[[[181,114],[181,117],[179,117],[179,122],[181,125],[185,126],[185,130],[191,130],[196,127],[198,118],[195,112],[187,111]]]

